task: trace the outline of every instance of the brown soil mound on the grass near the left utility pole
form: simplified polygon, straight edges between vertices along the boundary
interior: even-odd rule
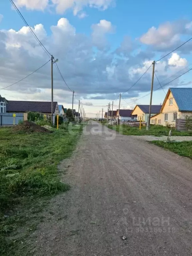
[[[37,125],[33,122],[30,121],[24,121],[22,124],[18,124],[13,127],[13,131],[16,132],[26,132],[26,133],[31,133],[31,132],[51,132],[50,130],[45,129],[44,127]]]

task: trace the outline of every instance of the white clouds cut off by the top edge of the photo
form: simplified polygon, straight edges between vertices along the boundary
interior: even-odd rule
[[[97,8],[106,10],[114,3],[115,0],[51,0],[56,6],[57,13],[64,13],[72,9],[74,15],[77,15],[84,7]],[[31,10],[44,10],[49,5],[49,0],[16,0],[18,7],[26,7]]]

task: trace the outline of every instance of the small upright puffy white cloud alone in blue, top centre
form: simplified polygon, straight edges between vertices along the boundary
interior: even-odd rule
[[[92,41],[95,46],[99,49],[103,49],[107,46],[107,33],[113,33],[115,28],[112,26],[110,21],[100,20],[98,24],[93,24],[92,28]]]

